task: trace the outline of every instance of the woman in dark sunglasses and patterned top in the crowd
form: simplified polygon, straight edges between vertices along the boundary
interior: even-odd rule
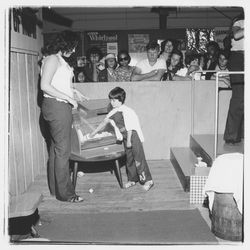
[[[116,79],[118,82],[129,82],[131,79],[134,67],[129,66],[131,57],[126,50],[121,50],[118,53],[119,67],[116,69]]]

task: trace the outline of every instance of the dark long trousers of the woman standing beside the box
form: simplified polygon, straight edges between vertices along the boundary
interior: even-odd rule
[[[75,195],[69,174],[72,108],[68,103],[44,98],[42,113],[51,134],[48,171],[50,192],[58,200],[67,201]]]

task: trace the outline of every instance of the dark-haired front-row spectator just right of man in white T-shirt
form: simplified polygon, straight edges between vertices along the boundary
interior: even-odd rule
[[[167,61],[167,71],[162,76],[162,81],[179,80],[185,81],[191,78],[187,76],[187,68],[183,65],[183,54],[179,50],[174,50]]]

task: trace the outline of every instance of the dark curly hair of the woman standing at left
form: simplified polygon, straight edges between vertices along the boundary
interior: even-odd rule
[[[50,39],[41,51],[45,56],[56,54],[59,51],[69,52],[77,46],[78,42],[79,36],[76,32],[65,30]]]

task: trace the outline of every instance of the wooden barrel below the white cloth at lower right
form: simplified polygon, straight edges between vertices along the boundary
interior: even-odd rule
[[[211,231],[219,238],[242,241],[242,215],[231,193],[215,193]]]

